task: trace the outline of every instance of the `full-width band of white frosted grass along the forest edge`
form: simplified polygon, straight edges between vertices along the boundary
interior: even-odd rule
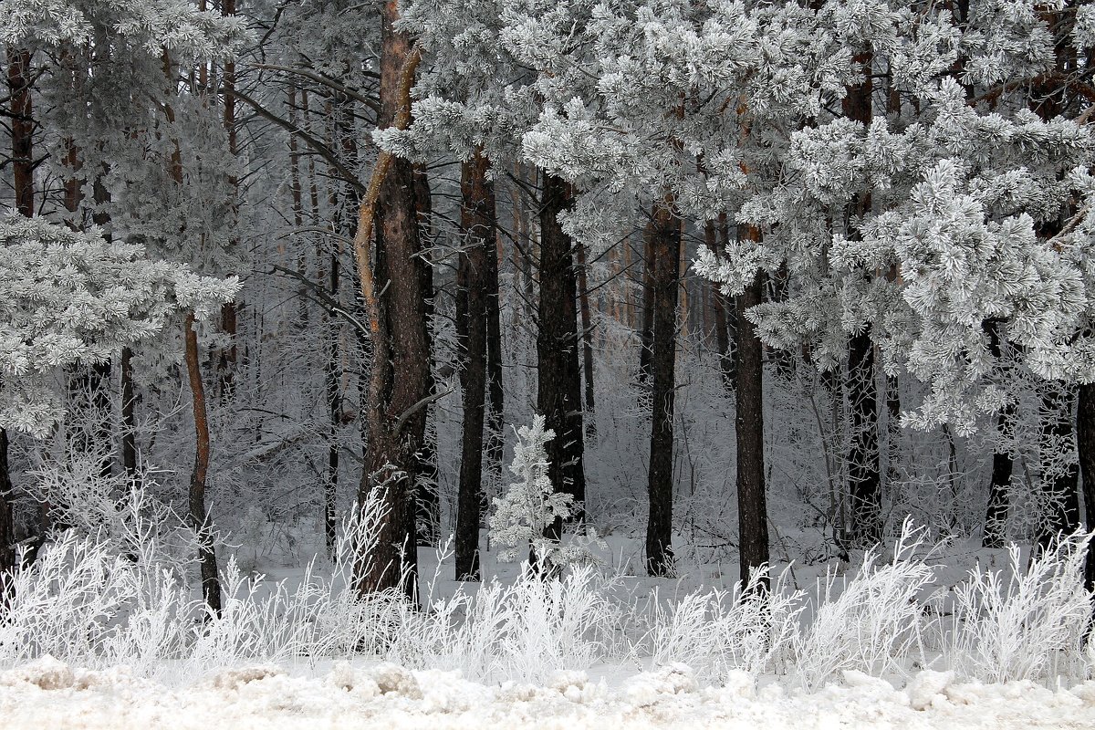
[[[141,543],[120,553],[117,540],[61,533],[14,576],[0,669],[50,656],[170,684],[227,668],[361,660],[542,685],[561,672],[616,667],[680,670],[698,685],[756,686],[775,675],[818,692],[849,676],[900,681],[919,669],[959,681],[1075,683],[1095,660],[1085,636],[1087,536],[1026,563],[1013,548],[1002,568],[954,580],[944,551],[907,525],[888,558],[869,553],[812,592],[787,570],[771,588],[762,571],[745,589],[673,590],[592,566],[449,584],[440,555],[418,609],[396,593],[361,599],[353,590],[351,548],[369,544],[379,514],[364,513],[345,525],[341,559],[313,560],[295,580],[249,576],[230,560],[219,616],[204,610],[177,560],[160,557],[154,531],[138,524]]]

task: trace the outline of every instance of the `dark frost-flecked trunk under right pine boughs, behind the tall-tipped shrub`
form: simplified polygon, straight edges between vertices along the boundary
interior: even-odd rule
[[[878,471],[878,399],[875,349],[866,331],[848,345],[848,396],[852,410],[848,453],[852,541],[858,547],[881,542],[881,479]]]

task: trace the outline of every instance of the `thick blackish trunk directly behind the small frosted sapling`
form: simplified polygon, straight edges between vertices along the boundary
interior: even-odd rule
[[[574,200],[570,186],[562,178],[542,173],[542,179],[537,409],[543,414],[546,427],[555,431],[555,438],[546,444],[552,485],[556,491],[585,501],[577,280],[573,242],[558,222],[558,215]],[[561,529],[556,524],[553,532]]]

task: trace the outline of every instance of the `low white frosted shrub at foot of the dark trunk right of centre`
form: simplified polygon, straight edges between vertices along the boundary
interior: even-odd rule
[[[779,671],[798,631],[803,592],[791,590],[786,572],[770,589],[763,587],[768,566],[754,570],[745,590],[696,589],[664,604],[657,593],[645,617],[649,629],[632,647],[636,659],[649,654],[654,667],[683,662],[696,679],[725,682],[739,670],[756,679]]]

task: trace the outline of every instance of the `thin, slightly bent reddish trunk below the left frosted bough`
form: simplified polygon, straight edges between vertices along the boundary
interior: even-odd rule
[[[198,362],[198,336],[194,331],[194,315],[186,315],[186,372],[191,381],[194,406],[194,471],[191,472],[189,518],[198,541],[198,565],[201,570],[201,598],[214,615],[220,616],[220,579],[217,572],[217,552],[212,543],[212,524],[206,512],[206,476],[209,472],[209,417],[206,412],[205,384]]]

